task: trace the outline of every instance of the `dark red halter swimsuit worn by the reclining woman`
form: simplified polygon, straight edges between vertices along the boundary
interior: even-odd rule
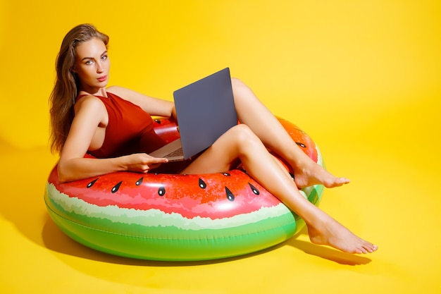
[[[149,153],[166,145],[154,132],[153,119],[147,112],[116,94],[107,92],[107,96],[96,96],[107,109],[106,136],[101,148],[89,150],[89,154],[97,158],[120,157],[138,152]]]

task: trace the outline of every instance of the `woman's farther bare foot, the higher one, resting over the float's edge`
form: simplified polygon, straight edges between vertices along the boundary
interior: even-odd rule
[[[299,188],[311,185],[324,185],[326,188],[334,188],[349,183],[349,179],[333,176],[333,174],[311,160],[303,166],[294,166],[294,182]]]

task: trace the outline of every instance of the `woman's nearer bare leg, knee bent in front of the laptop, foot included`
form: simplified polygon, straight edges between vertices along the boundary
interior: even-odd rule
[[[182,173],[228,171],[239,158],[247,173],[299,214],[308,227],[311,242],[330,245],[347,253],[367,253],[377,247],[357,237],[321,209],[306,200],[297,185],[247,125],[236,125],[195,159]]]

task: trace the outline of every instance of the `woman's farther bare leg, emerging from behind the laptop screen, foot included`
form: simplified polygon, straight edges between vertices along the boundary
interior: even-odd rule
[[[349,183],[347,178],[333,176],[304,154],[247,85],[233,78],[232,88],[239,120],[248,125],[266,147],[290,164],[298,187],[321,184],[332,188]]]

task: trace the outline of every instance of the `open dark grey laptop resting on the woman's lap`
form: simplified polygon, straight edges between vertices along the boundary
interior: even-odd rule
[[[237,125],[230,68],[176,90],[173,97],[180,139],[151,152],[151,157],[168,161],[190,159]]]

